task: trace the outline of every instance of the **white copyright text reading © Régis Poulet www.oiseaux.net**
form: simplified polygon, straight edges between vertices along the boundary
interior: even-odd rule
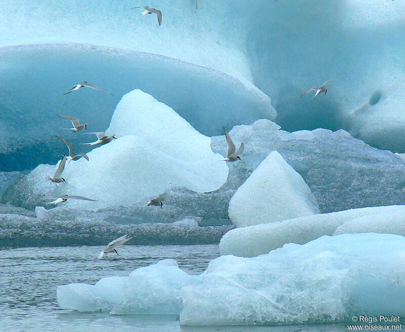
[[[401,330],[402,323],[399,316],[368,316],[354,315],[351,320],[360,325],[347,325],[348,329],[352,330]]]

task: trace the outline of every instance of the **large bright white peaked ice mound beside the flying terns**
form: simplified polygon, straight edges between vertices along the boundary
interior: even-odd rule
[[[69,200],[65,206],[96,210],[146,203],[175,187],[213,191],[227,179],[228,168],[212,152],[210,138],[140,90],[123,97],[108,132],[119,134],[118,139],[90,151],[90,161],[82,158],[66,165],[66,185],[44,182],[56,166],[39,165],[16,185],[17,200],[35,206],[46,196],[80,194],[98,201]]]

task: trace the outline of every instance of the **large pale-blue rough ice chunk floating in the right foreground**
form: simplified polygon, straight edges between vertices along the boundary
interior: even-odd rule
[[[286,244],[255,258],[221,256],[210,262],[202,283],[182,289],[180,324],[319,323],[366,313],[402,316],[404,247],[405,238],[398,235],[343,234]],[[387,290],[388,301],[383,293]]]

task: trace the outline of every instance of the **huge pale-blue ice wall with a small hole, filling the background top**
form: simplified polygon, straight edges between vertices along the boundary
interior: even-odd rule
[[[398,66],[404,51],[403,2],[342,0],[339,4],[308,6],[293,0],[282,4],[258,0],[235,6],[225,0],[201,3],[195,10],[192,2],[161,0],[159,6],[165,11],[161,26],[152,24],[150,17],[129,15],[125,4],[88,0],[86,6],[92,10],[70,11],[67,18],[71,4],[64,1],[34,0],[24,5],[9,1],[0,16],[7,22],[1,30],[0,46],[79,42],[93,48],[106,45],[164,55],[213,68],[236,78],[240,85],[256,86],[272,98],[279,110],[277,122],[286,130],[343,128],[374,146],[404,151],[405,140],[398,135],[405,122],[401,112],[405,80]],[[232,10],[224,11],[224,7]],[[258,18],[258,12],[268,14]],[[90,62],[97,69],[94,75],[104,67],[98,59],[90,57]],[[12,70],[11,60],[0,63]],[[114,73],[125,75],[125,68],[115,69]],[[171,71],[175,75],[175,68]],[[313,100],[299,97],[326,80],[330,80],[328,96]],[[189,83],[195,91],[204,87]],[[356,88],[353,91],[350,87]],[[174,91],[172,95],[180,90]],[[376,92],[381,98],[375,98]],[[226,91],[218,96],[228,100]]]

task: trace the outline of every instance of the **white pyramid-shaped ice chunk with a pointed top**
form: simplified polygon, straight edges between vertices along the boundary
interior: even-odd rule
[[[229,217],[251,226],[319,213],[302,177],[277,152],[271,152],[229,202]]]

